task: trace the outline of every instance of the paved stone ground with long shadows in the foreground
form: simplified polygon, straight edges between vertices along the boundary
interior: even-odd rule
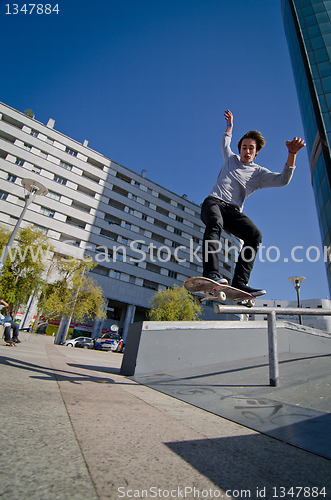
[[[21,339],[0,345],[1,499],[330,498],[330,460],[119,375],[121,354]]]

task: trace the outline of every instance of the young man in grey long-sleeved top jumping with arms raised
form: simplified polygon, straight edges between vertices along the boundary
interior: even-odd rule
[[[222,138],[224,163],[217,180],[202,204],[201,219],[206,225],[203,238],[203,276],[219,283],[227,283],[219,273],[218,251],[222,229],[243,240],[236,264],[232,286],[245,292],[261,292],[248,286],[254,260],[262,242],[256,225],[242,213],[245,199],[261,188],[286,186],[293,175],[298,151],[305,146],[301,138],[287,141],[288,158],[282,173],[275,173],[255,163],[265,141],[260,132],[247,132],[238,143],[239,155],[231,151],[233,115],[224,113],[226,131]],[[260,294],[260,293],[259,293]]]

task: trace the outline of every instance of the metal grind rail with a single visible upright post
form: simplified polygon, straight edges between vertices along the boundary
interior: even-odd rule
[[[331,309],[301,309],[290,307],[246,307],[217,304],[214,307],[214,311],[216,314],[263,314],[264,316],[268,316],[269,381],[270,386],[272,387],[279,386],[276,315],[283,314],[286,316],[331,316]]]

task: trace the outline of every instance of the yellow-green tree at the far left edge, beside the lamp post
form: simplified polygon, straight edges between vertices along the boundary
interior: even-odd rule
[[[8,242],[10,231],[0,229],[0,252]],[[47,256],[53,251],[51,240],[34,226],[20,228],[0,277],[0,295],[8,302],[7,314],[15,317],[32,292],[42,286]]]

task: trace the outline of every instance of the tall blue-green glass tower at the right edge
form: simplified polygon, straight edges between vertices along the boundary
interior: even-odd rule
[[[331,257],[331,0],[282,0],[324,248]],[[328,260],[328,262],[329,262]],[[331,268],[327,265],[331,290]]]

